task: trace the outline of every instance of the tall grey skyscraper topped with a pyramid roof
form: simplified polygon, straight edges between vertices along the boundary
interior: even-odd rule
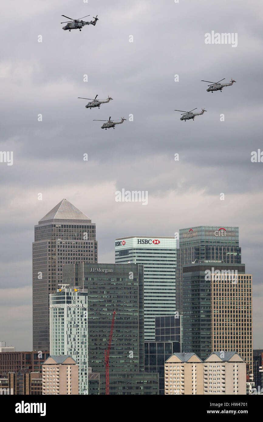
[[[97,262],[95,223],[63,199],[35,226],[33,242],[33,349],[49,350],[49,294],[62,282],[62,266]]]

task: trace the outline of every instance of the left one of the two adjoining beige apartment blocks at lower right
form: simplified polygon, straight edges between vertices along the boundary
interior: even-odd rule
[[[203,361],[195,353],[172,354],[164,369],[166,395],[203,395]]]

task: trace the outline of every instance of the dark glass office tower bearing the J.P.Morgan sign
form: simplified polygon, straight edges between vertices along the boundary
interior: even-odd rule
[[[87,290],[89,368],[100,373],[105,394],[105,350],[115,322],[109,358],[110,394],[158,394],[158,374],[144,373],[144,273],[138,264],[64,265],[63,281]]]

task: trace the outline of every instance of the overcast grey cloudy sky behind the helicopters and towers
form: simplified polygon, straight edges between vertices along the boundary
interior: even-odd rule
[[[263,151],[262,9],[261,0],[2,4],[0,150],[14,163],[0,163],[0,340],[32,349],[34,225],[65,197],[96,223],[99,262],[114,262],[115,238],[239,226],[263,348],[263,163],[251,162]],[[99,21],[68,32],[62,14]],[[238,45],[206,44],[211,31],[237,33]],[[212,94],[201,82],[222,78],[236,84]],[[77,99],[97,94],[114,100],[89,110]],[[194,122],[174,111],[195,107],[207,112]],[[127,121],[106,131],[93,122],[109,116]],[[122,188],[148,191],[148,205],[116,202]]]

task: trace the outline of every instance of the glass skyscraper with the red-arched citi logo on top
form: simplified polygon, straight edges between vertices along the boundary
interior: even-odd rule
[[[176,311],[179,314],[183,312],[183,265],[198,260],[241,264],[239,228],[198,226],[179,230],[176,276]]]

